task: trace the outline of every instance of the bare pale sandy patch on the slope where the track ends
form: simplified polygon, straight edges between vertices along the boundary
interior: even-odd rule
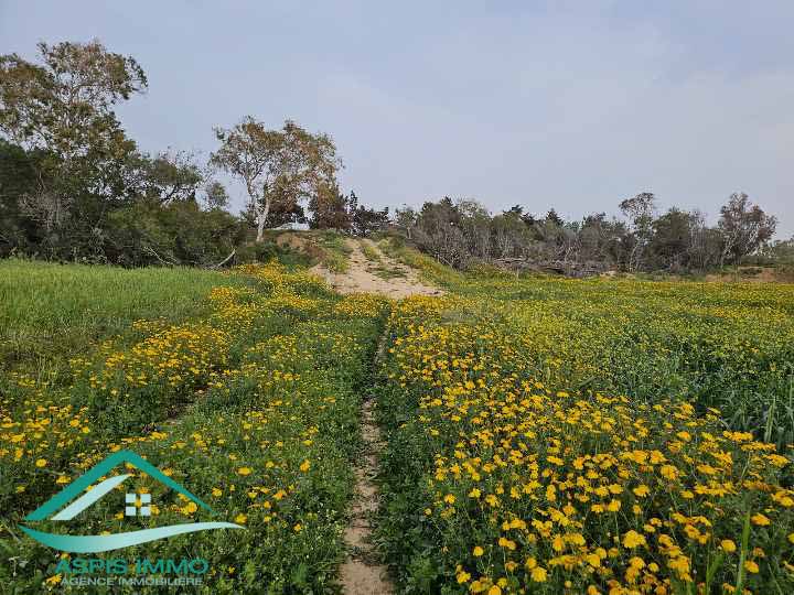
[[[362,245],[374,255],[373,260],[364,255]],[[334,273],[320,264],[311,269],[311,272],[323,278],[340,293],[379,293],[396,300],[417,294],[443,293],[438,288],[422,283],[414,269],[383,253],[372,240],[347,239],[347,246],[352,252],[346,272]]]

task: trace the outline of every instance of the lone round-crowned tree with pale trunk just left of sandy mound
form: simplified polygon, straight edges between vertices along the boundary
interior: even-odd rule
[[[323,184],[335,183],[341,161],[328,134],[311,134],[287,120],[281,130],[268,130],[251,117],[234,128],[215,129],[221,148],[211,163],[242,180],[257,224],[257,241],[273,203],[289,210],[302,198],[316,194]]]

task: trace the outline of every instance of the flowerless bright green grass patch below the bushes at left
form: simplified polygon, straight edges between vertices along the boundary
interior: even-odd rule
[[[110,336],[135,338],[139,318],[180,322],[207,311],[206,295],[242,278],[200,269],[121,269],[0,261],[0,369],[40,377]]]

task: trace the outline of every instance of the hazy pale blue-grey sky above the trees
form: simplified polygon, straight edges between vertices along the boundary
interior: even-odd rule
[[[345,192],[619,214],[640,192],[711,223],[745,192],[794,234],[794,2],[0,0],[0,53],[99,39],[149,89],[141,149],[206,159],[253,116],[330,133]],[[233,209],[244,202],[235,186]]]

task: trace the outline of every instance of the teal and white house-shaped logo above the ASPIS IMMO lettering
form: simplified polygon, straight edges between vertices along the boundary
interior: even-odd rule
[[[183,486],[164,475],[160,469],[132,451],[119,451],[94,465],[94,467],[88,469],[84,475],[72,482],[63,490],[28,515],[24,520],[42,521],[50,519],[54,521],[68,521],[74,519],[77,515],[105,497],[116,486],[121,485],[131,477],[129,474],[116,475],[100,482],[100,479],[107,476],[116,466],[125,463],[129,463],[169,488],[182,494],[197,506],[213,512],[213,509],[201,498],[187,491]],[[99,482],[99,484],[96,484],[97,482]],[[86,488],[90,486],[93,486],[93,488],[86,491]],[[139,502],[140,506],[138,506]],[[151,515],[151,504],[150,494],[127,493],[125,498],[125,516],[148,517]],[[245,527],[232,522],[189,522],[103,536],[46,533],[24,526],[20,526],[20,529],[31,538],[50,548],[55,548],[64,552],[97,553],[117,550],[119,548],[129,548],[149,541],[168,539],[183,533],[212,529],[245,529]]]

